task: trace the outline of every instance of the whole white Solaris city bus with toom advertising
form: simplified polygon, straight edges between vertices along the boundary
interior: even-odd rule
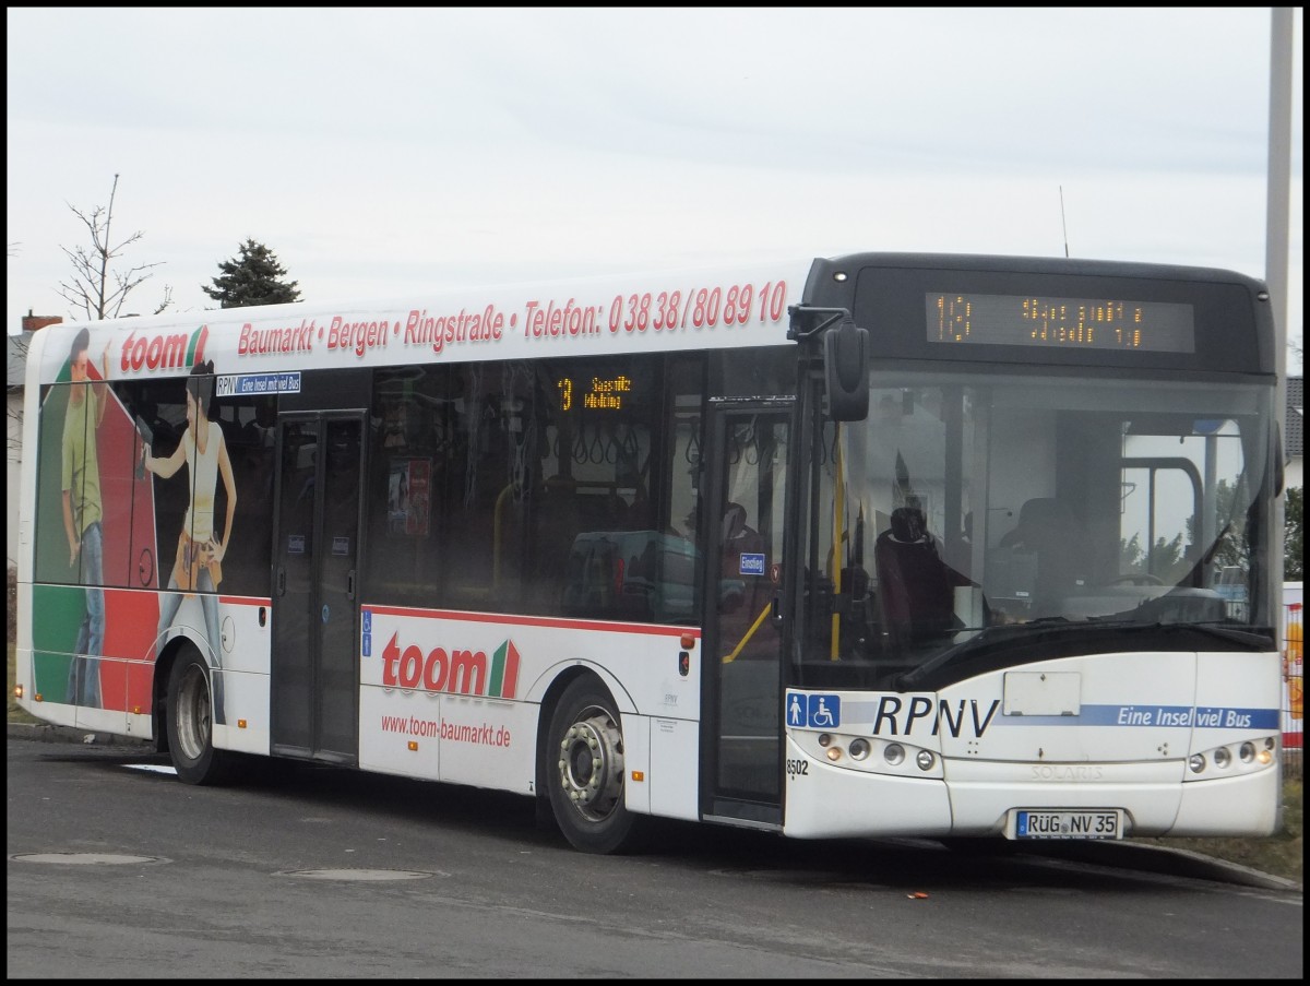
[[[52,325],[16,691],[590,852],[1271,834],[1273,346],[1229,271],[891,253]]]

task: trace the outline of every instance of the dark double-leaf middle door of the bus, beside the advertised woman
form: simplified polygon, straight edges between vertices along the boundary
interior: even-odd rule
[[[355,764],[363,412],[278,418],[272,753]]]

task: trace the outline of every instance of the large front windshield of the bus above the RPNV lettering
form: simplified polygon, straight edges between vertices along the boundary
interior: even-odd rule
[[[875,375],[867,421],[816,425],[800,654],[821,671],[802,678],[1018,663],[1062,628],[1081,653],[1197,649],[1183,627],[1267,648],[1267,401],[1213,382]]]

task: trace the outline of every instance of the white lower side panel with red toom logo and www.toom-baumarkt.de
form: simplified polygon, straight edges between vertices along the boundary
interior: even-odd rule
[[[561,665],[603,663],[668,720],[700,716],[684,627],[360,607],[359,766],[532,793],[537,711]],[[639,766],[638,729],[627,755]]]

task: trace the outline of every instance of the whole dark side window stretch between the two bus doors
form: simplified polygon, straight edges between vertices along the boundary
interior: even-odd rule
[[[692,619],[702,361],[380,371],[369,599]]]

